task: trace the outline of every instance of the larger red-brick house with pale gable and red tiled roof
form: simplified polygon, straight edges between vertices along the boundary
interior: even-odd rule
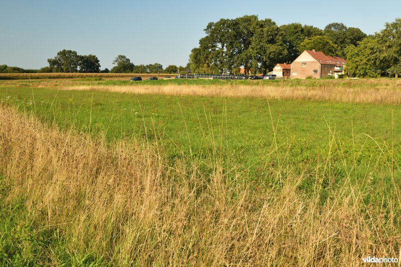
[[[305,79],[310,76],[320,79],[330,75],[337,78],[338,74],[343,74],[346,63],[341,57],[330,57],[323,52],[305,50],[291,63],[291,78]]]

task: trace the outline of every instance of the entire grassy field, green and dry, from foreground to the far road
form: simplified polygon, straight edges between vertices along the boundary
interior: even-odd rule
[[[22,214],[42,210],[28,214],[44,229],[60,225],[65,234],[45,238],[57,249],[41,254],[42,263],[310,265],[398,256],[399,82],[265,82],[3,81],[2,201],[21,203]],[[75,187],[61,186],[69,179]],[[63,190],[70,193],[60,198]],[[85,204],[89,197],[99,204]]]

